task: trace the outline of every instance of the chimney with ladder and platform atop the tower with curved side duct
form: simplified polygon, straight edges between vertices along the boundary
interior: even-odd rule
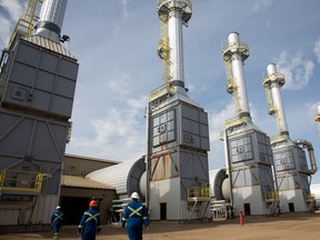
[[[277,72],[274,63],[267,66],[268,76],[263,79],[263,87],[267,91],[269,114],[276,116],[279,134],[289,136],[283,102],[281,97],[281,87],[286,83],[284,76]]]

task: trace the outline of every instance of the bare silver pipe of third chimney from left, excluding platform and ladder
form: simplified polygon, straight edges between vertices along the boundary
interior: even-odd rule
[[[228,36],[228,42],[231,46],[232,43],[240,44],[240,38],[238,32],[231,32]],[[243,59],[240,54],[240,51],[233,51],[231,57],[231,68],[232,68],[232,76],[236,80],[237,90],[238,90],[238,101],[240,107],[240,113],[250,113],[249,111],[249,103],[247,97],[247,89],[244,82],[244,73],[243,73]]]

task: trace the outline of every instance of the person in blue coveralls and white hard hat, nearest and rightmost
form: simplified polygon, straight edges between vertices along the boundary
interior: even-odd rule
[[[130,198],[132,201],[124,208],[121,228],[124,228],[127,222],[129,240],[141,240],[143,224],[144,229],[149,230],[147,208],[139,202],[140,198],[137,192],[133,192]]]

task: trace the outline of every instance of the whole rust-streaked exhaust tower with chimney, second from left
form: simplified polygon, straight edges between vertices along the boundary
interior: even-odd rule
[[[152,220],[208,218],[210,208],[208,114],[184,89],[182,27],[190,0],[159,0],[164,86],[150,92],[148,171]],[[150,156],[150,157],[149,157]]]

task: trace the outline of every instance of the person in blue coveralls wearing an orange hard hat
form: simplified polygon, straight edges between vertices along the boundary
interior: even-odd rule
[[[96,200],[89,202],[89,209],[83,213],[78,233],[82,240],[96,240],[96,233],[101,231],[100,213]]]

